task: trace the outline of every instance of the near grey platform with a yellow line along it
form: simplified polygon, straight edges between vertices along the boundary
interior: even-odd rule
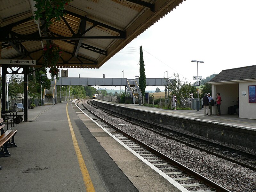
[[[188,191],[104,132],[72,100],[30,109],[28,122],[12,129],[18,147],[0,158],[0,191]]]

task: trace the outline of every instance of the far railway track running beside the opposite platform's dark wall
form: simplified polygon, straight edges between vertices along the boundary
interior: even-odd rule
[[[247,167],[251,170],[256,171],[256,155],[241,151],[238,149],[230,148],[224,145],[220,145],[218,143],[210,142],[208,140],[203,140],[200,138],[193,137],[188,134],[184,134],[181,132],[172,131],[170,129],[158,126],[156,124],[152,124],[149,122],[144,122],[139,119],[135,119],[132,117],[124,116],[122,114],[116,113],[114,111],[110,111],[108,109],[103,109],[100,106],[96,105],[95,103],[89,102],[91,106],[95,108],[100,108],[100,110],[108,113],[109,115],[121,118],[131,124],[141,126],[145,129],[148,129],[152,132],[155,132],[159,135],[162,135],[168,139],[176,140],[180,143],[186,144],[189,147],[199,149],[204,151],[208,154],[212,154],[214,156],[218,156],[220,158],[226,159],[230,162],[242,165]]]

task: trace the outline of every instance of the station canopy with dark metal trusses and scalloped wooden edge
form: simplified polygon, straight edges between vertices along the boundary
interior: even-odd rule
[[[36,60],[42,66],[44,44],[55,43],[63,50],[58,67],[99,68],[182,2],[74,0],[64,6],[61,20],[46,28],[44,20],[33,19],[33,0],[1,1],[0,59]]]

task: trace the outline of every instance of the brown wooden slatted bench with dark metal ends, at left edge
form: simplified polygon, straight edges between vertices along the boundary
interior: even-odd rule
[[[14,142],[14,136],[16,135],[17,130],[4,131],[5,124],[3,124],[3,122],[3,118],[0,118],[0,157],[9,157],[11,154],[9,153],[7,147],[17,147]],[[0,169],[2,169],[1,166]]]

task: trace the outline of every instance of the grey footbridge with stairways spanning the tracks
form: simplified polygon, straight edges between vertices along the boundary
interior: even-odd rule
[[[147,78],[147,86],[166,86],[175,83],[176,79],[169,78]],[[63,85],[83,85],[83,86],[125,86],[125,92],[133,98],[133,103],[139,103],[141,92],[139,88],[139,78],[93,78],[93,77],[61,77],[58,81],[51,82],[51,89],[44,90],[44,104],[53,105],[57,95],[55,86]],[[167,90],[167,88],[165,89]],[[46,103],[48,102],[48,103]]]

